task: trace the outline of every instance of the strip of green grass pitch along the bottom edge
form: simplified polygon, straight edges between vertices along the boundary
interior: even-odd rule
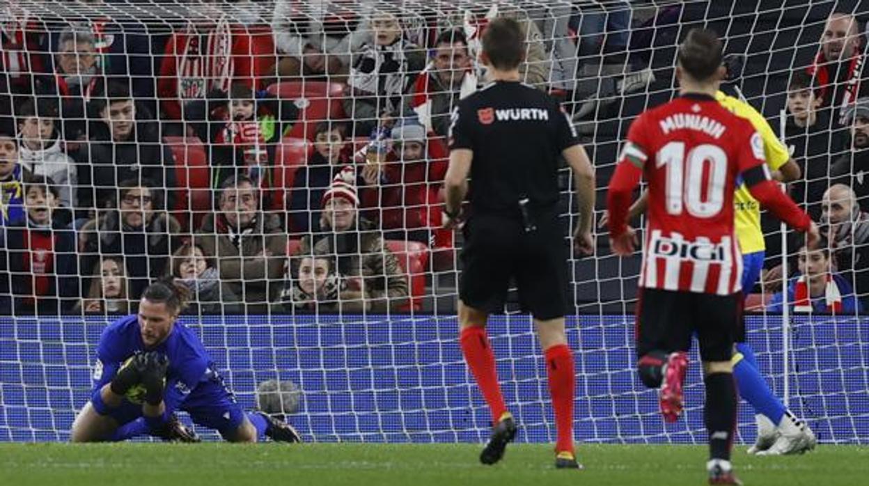
[[[511,444],[495,466],[476,444],[0,444],[0,484],[353,486],[705,484],[706,447],[580,445],[584,470],[553,469],[551,445]],[[805,456],[733,452],[746,485],[869,483],[869,448],[819,446]]]

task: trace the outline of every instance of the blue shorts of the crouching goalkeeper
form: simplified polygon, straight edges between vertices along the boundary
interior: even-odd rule
[[[222,436],[232,434],[245,420],[244,410],[235,401],[235,395],[220,381],[199,383],[181,403],[183,411],[190,414],[196,425],[215,429]],[[142,404],[132,403],[126,398],[116,409],[109,412],[118,425],[129,423],[142,416]]]

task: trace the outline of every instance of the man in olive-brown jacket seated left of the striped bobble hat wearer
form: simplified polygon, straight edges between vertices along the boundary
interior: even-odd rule
[[[248,312],[266,312],[280,286],[287,234],[278,216],[262,211],[250,177],[230,177],[217,197],[218,212],[205,216],[194,242],[217,258],[221,278]]]

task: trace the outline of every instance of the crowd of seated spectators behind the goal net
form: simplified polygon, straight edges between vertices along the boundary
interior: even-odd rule
[[[425,269],[454,262],[450,113],[484,83],[479,38],[497,9],[278,0],[263,19],[255,4],[199,2],[170,33],[5,13],[0,314],[128,312],[163,276],[193,291],[194,312],[419,309]],[[527,37],[525,81],[582,123],[656,81],[631,9],[498,13]],[[866,45],[857,18],[833,14],[814,63],[789,76],[785,142],[802,173],[789,191],[829,242],[793,252],[795,310],[869,304]],[[784,272],[766,267],[780,309]]]

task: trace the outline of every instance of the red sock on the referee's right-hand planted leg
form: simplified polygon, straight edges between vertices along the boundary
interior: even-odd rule
[[[549,395],[555,410],[558,439],[555,452],[574,452],[574,353],[567,344],[555,344],[546,352]]]

